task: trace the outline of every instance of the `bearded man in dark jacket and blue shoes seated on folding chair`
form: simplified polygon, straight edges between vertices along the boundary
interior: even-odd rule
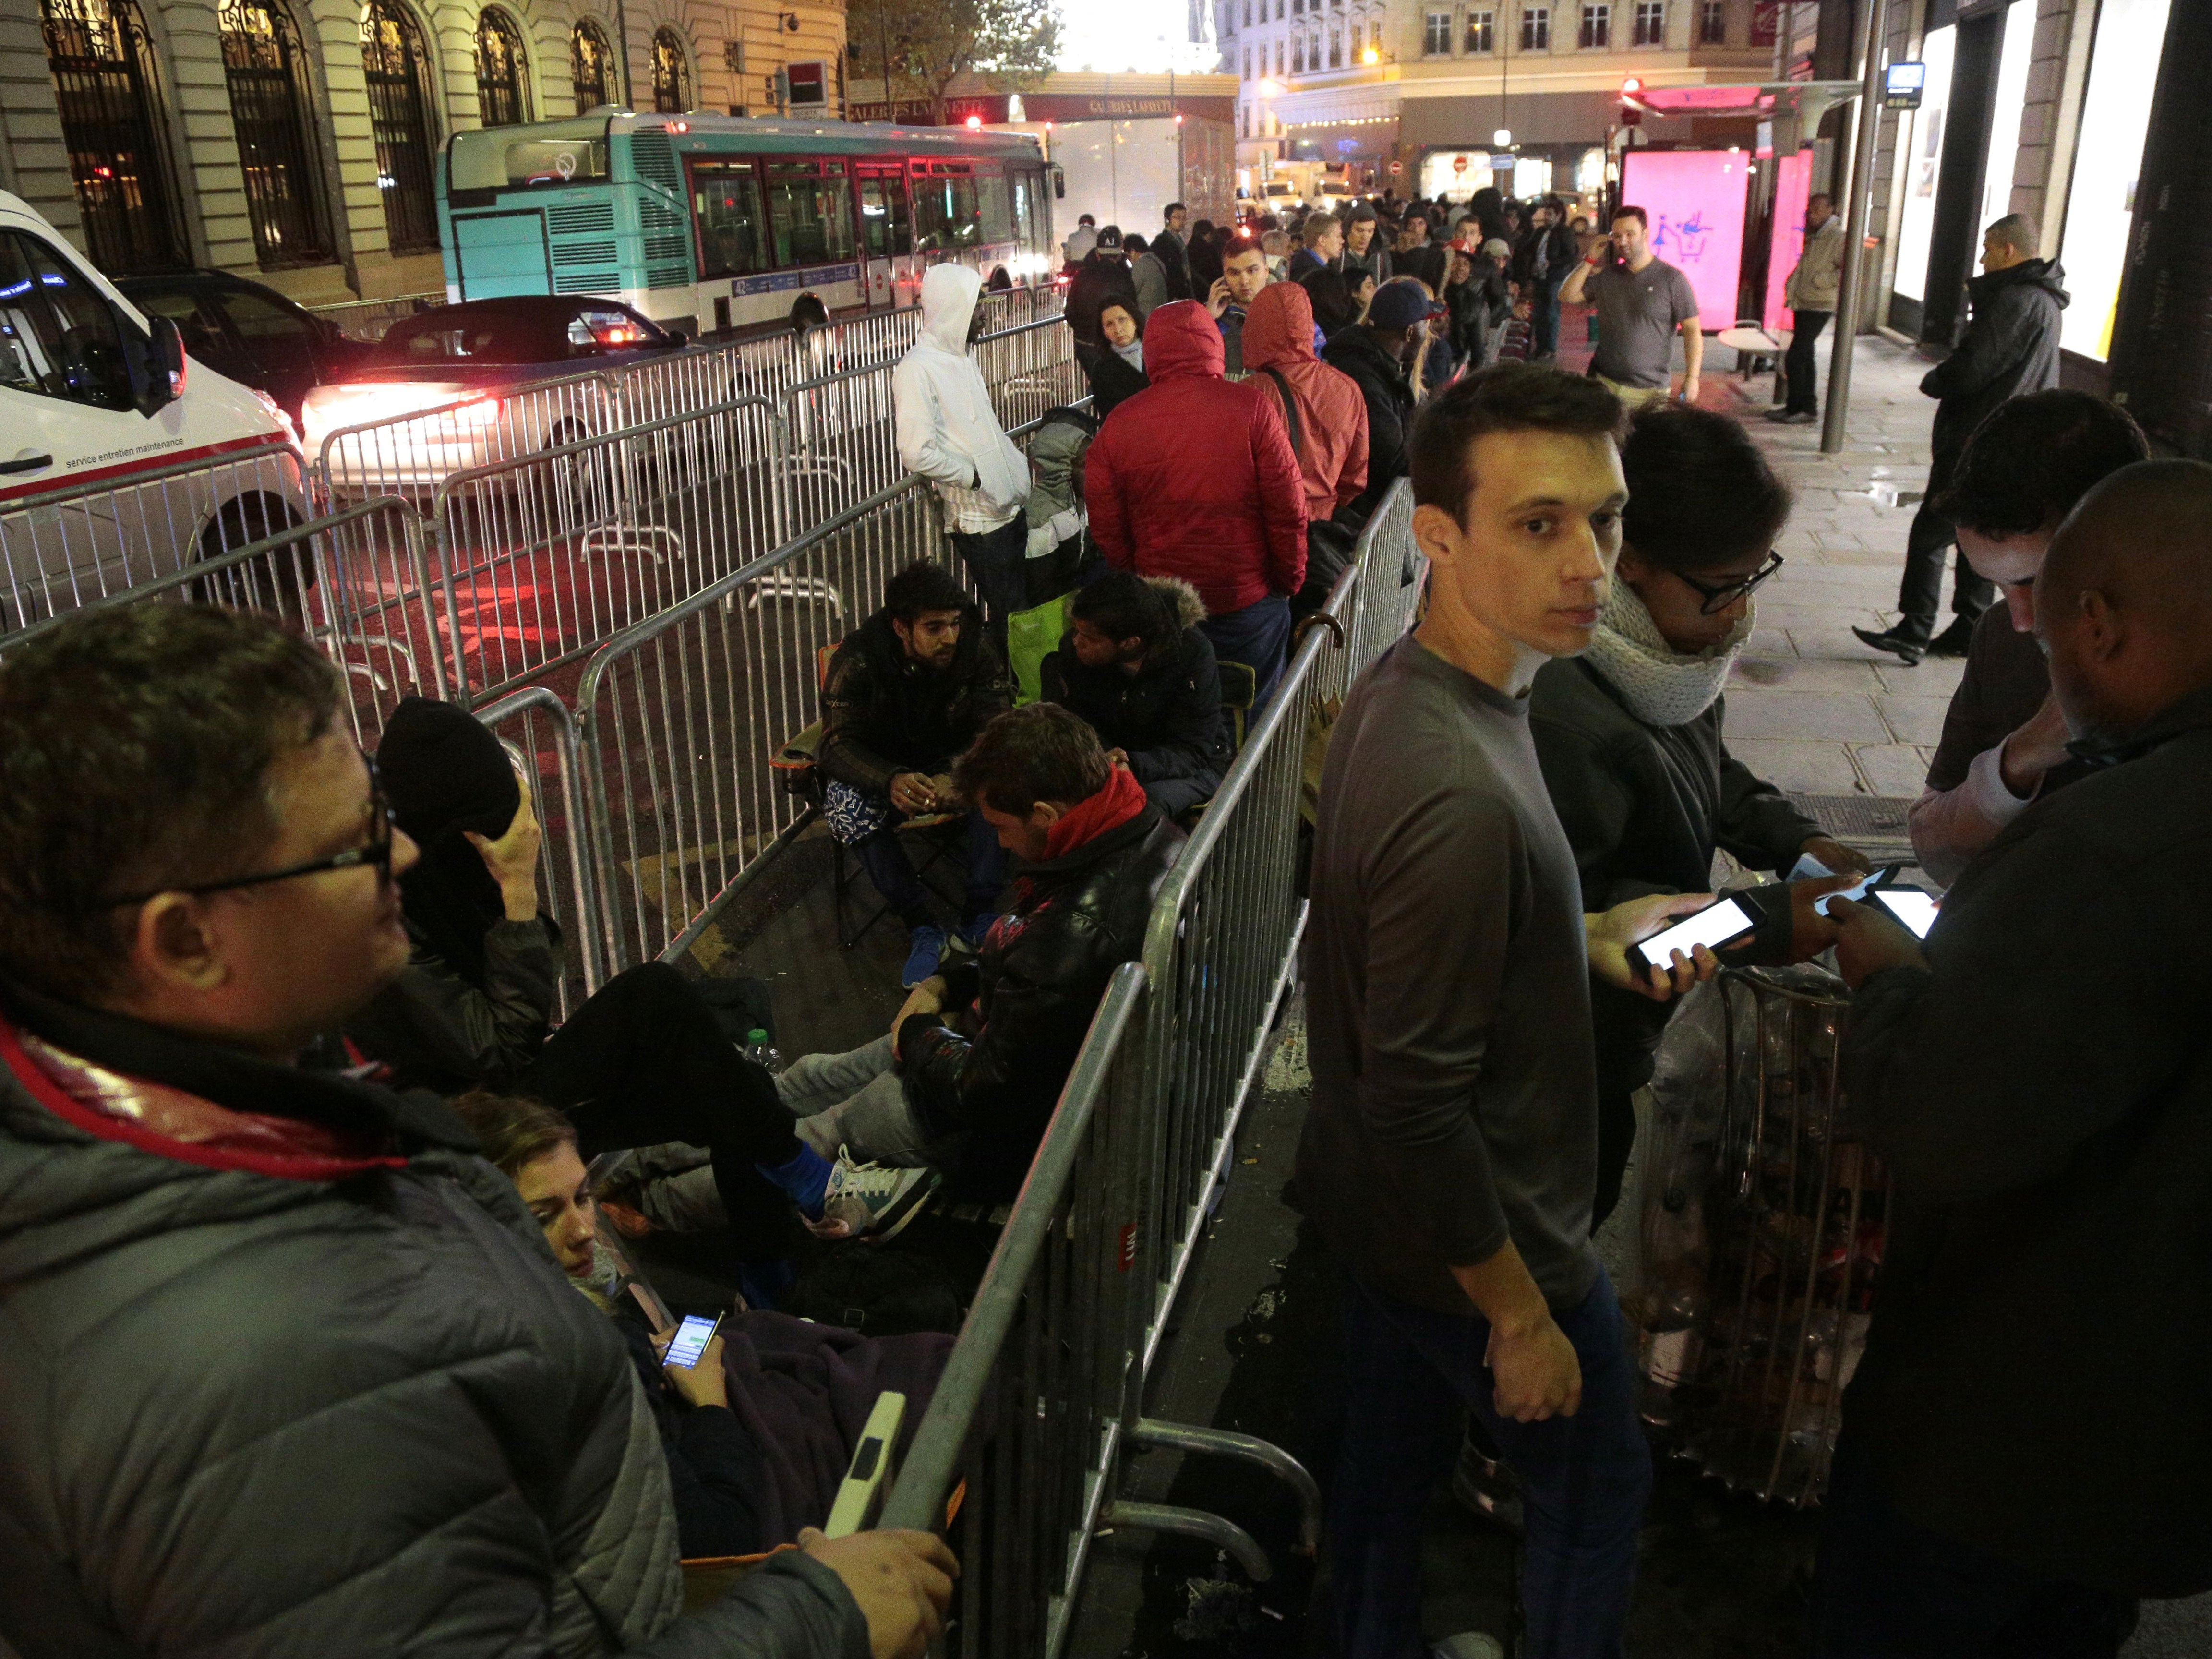
[[[1011,703],[1006,666],[942,564],[909,564],[894,575],[883,611],[845,635],[830,659],[823,818],[907,925],[909,987],[938,971],[947,938],[898,841],[898,821],[969,814],[960,936],[973,947],[991,922],[1006,860],[989,825],[953,790],[951,763]]]

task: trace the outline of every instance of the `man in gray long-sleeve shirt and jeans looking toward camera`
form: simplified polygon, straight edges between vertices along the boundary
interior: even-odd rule
[[[1619,400],[1504,363],[1413,436],[1429,613],[1352,690],[1314,832],[1298,1199],[1345,1265],[1336,1650],[1420,1648],[1420,1513],[1473,1407],[1520,1478],[1526,1652],[1621,1652],[1650,1453],[1590,1250],[1590,987],[1705,894],[1584,916],[1528,684],[1590,644],[1626,502]],[[1484,1376],[1489,1371],[1489,1376]]]

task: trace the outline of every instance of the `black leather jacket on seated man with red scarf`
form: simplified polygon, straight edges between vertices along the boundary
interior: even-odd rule
[[[1031,865],[978,956],[973,1035],[927,1013],[898,1029],[909,1104],[947,1133],[973,1133],[962,1186],[1011,1194],[1022,1183],[1106,980],[1144,951],[1181,849],[1183,832],[1146,807]]]

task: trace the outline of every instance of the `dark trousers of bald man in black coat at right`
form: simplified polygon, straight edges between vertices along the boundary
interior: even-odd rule
[[[2006,1566],[1889,1509],[1845,1398],[1812,1593],[1814,1659],[2110,1659],[2132,1630],[2132,1599]]]

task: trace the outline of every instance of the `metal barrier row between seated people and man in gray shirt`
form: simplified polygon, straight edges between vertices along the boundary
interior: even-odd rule
[[[1146,1418],[1144,1387],[1294,980],[1310,750],[1411,626],[1420,577],[1400,482],[1161,887],[1141,964],[1117,971],[907,1453],[885,1526],[931,1526],[967,1480],[962,1655],[1053,1659],[1102,1524],[1190,1533],[1270,1577],[1234,1522],[1119,1500],[1126,1444],[1274,1471],[1318,1544],[1318,1491],[1287,1453]]]

